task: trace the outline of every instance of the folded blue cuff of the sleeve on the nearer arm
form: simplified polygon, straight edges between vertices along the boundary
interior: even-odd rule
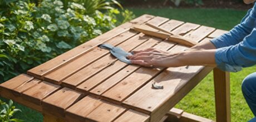
[[[228,60],[227,51],[224,48],[219,48],[215,52],[215,62],[220,70],[227,72],[239,72],[242,67],[233,64]],[[230,62],[230,63],[229,63]]]

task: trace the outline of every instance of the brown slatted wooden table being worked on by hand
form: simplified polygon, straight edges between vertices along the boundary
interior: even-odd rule
[[[0,94],[42,112],[45,121],[160,121],[213,68],[128,65],[97,47],[108,43],[126,51],[154,47],[169,52],[188,48],[130,30],[145,23],[196,42],[226,32],[145,14],[4,82]],[[152,81],[164,89],[152,89]],[[214,87],[216,121],[230,121],[229,74],[214,69]]]

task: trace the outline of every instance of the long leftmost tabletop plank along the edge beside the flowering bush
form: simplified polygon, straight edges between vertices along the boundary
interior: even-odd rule
[[[154,16],[144,14],[144,15],[132,20],[131,22],[132,23],[136,22],[137,24],[142,24],[144,22],[149,21],[152,18],[154,18]],[[122,24],[121,26],[116,27],[116,28],[110,30],[109,32],[106,32],[90,41],[87,41],[86,43],[83,43],[83,44],[79,45],[78,47],[71,49],[70,51],[68,51],[64,54],[51,59],[46,63],[38,65],[37,67],[35,67],[31,70],[28,70],[27,74],[32,75],[36,78],[41,78],[43,75],[51,72],[51,70],[61,67],[63,64],[70,62],[71,60],[75,59],[76,57],[79,57],[80,55],[88,52],[88,50],[91,50],[91,49],[97,47],[97,45],[104,43],[113,37],[116,37],[116,35],[126,32],[133,25],[131,22]]]

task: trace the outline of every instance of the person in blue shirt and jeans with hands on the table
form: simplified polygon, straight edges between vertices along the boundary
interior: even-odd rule
[[[256,0],[244,0],[253,3]],[[134,51],[127,58],[133,64],[160,67],[205,65],[218,67],[227,72],[238,72],[243,67],[256,64],[256,4],[249,9],[241,23],[220,37],[199,43],[183,52],[165,52],[149,48]],[[242,83],[242,92],[254,116],[256,116],[256,72],[248,75]],[[253,118],[250,121],[256,121]]]

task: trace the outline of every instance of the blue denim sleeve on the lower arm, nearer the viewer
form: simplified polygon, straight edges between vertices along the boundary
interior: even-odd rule
[[[238,72],[242,67],[256,64],[256,28],[242,42],[218,48],[215,62],[218,68],[228,72]]]

